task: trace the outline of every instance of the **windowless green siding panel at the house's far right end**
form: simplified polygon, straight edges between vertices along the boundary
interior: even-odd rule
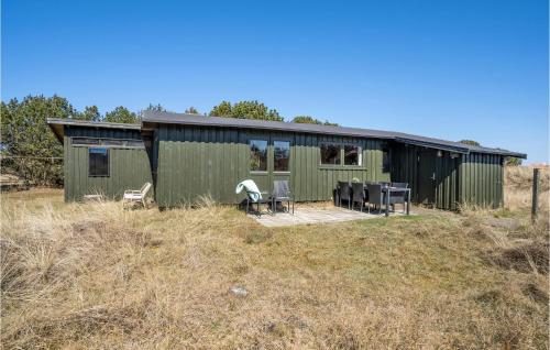
[[[494,154],[462,155],[460,200],[464,204],[499,207],[503,205],[503,157]]]

